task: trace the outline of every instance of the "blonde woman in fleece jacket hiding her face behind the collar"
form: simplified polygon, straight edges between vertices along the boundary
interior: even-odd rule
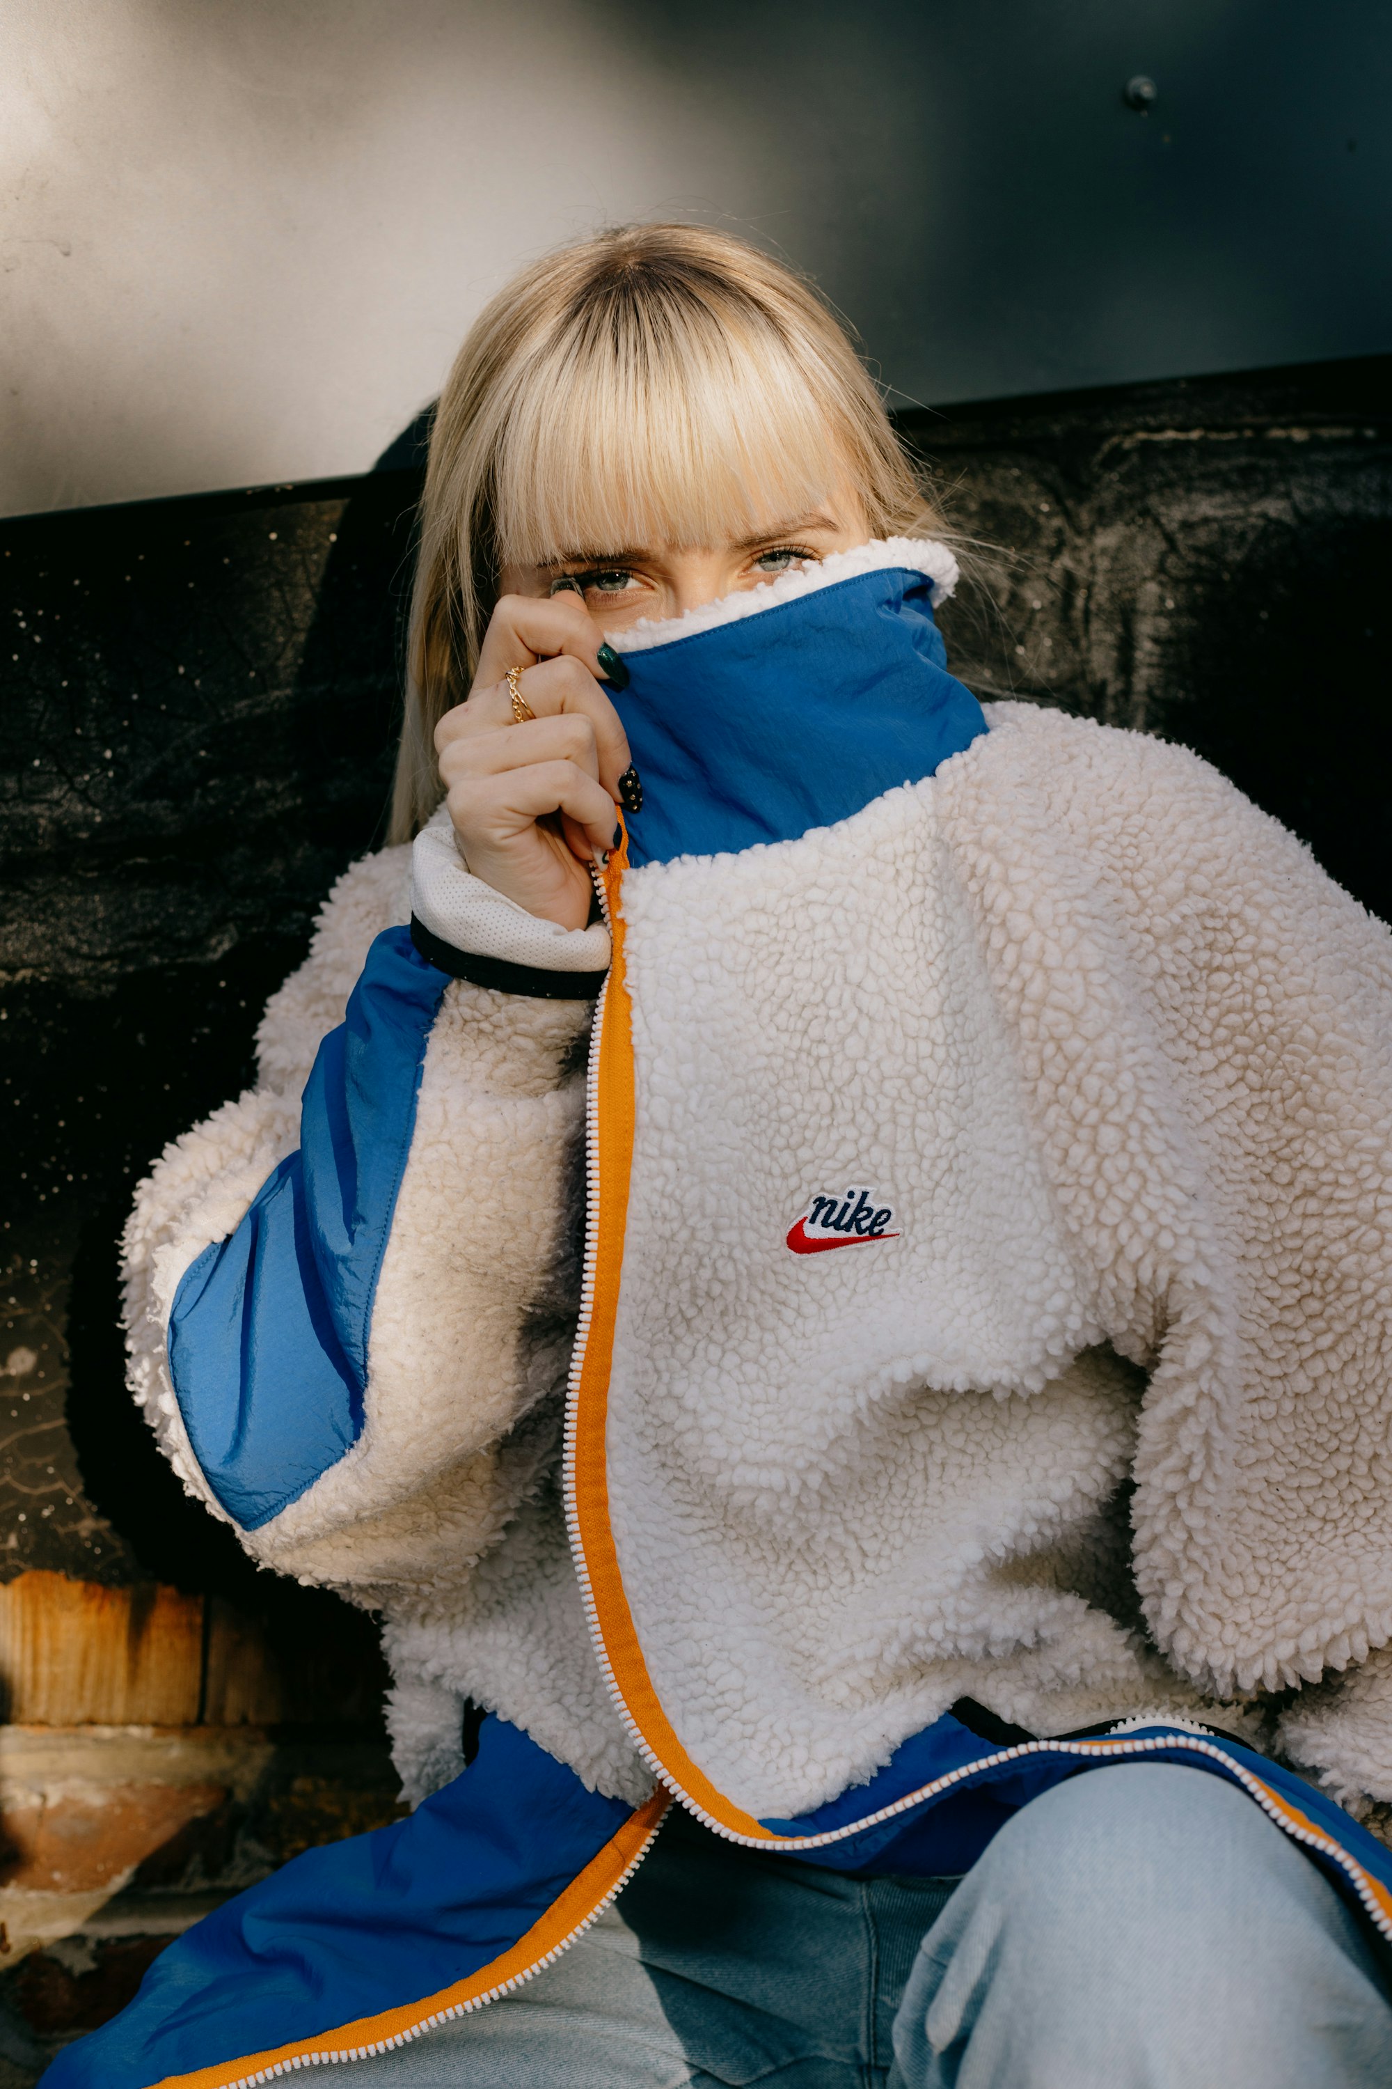
[[[954,581],[737,240],[465,341],[397,840],[127,1237],[136,1398],[380,1613],[415,1811],[54,2089],[1390,2079],[1388,934],[983,710]]]

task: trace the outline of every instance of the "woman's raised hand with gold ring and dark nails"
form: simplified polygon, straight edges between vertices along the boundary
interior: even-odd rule
[[[463,704],[434,729],[449,817],[474,877],[543,921],[584,928],[589,865],[614,846],[628,740],[599,685],[603,635],[574,593],[503,595]],[[536,712],[518,725],[507,671]]]

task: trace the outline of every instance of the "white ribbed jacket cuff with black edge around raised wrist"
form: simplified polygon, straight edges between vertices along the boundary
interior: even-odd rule
[[[609,969],[609,930],[561,928],[474,877],[455,846],[449,808],[411,846],[411,940],[455,980],[505,994],[589,1001]]]

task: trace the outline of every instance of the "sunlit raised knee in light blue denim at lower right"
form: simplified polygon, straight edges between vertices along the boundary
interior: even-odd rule
[[[906,2089],[1392,2081],[1384,1947],[1261,1807],[1175,1763],[1025,1807],[929,1930]]]

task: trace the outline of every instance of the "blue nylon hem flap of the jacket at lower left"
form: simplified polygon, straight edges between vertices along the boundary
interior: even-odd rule
[[[146,2089],[438,1995],[509,1951],[630,1817],[484,1719],[409,1820],[305,1851],[175,1939],[46,2089]]]

